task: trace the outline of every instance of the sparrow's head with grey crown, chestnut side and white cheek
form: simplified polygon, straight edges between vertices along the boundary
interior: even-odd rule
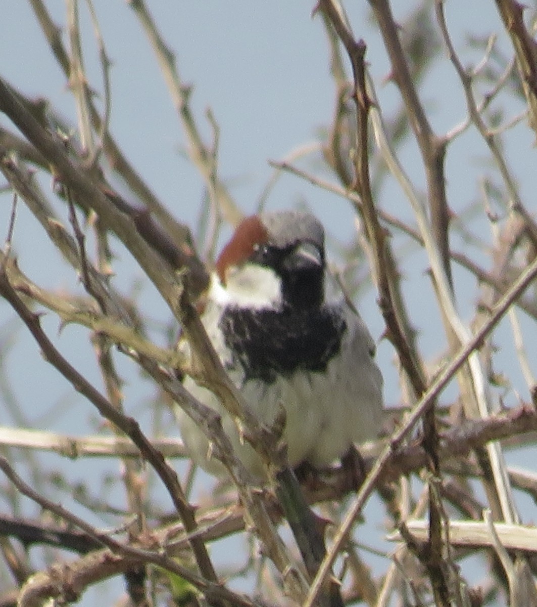
[[[227,305],[309,309],[324,301],[324,271],[324,230],[313,215],[252,215],[222,249],[213,291]]]

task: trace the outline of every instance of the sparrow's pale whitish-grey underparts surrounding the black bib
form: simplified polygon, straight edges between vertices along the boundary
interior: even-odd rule
[[[339,353],[323,372],[299,370],[282,376],[271,384],[259,379],[244,382],[245,402],[265,424],[272,424],[279,407],[284,407],[286,424],[284,440],[291,466],[309,461],[314,467],[329,466],[353,443],[373,438],[382,418],[382,375],[370,355],[373,341],[361,318],[343,307],[347,330]],[[229,362],[230,352],[218,330],[219,306],[213,305],[204,314],[207,333],[221,355]],[[239,387],[243,376],[238,371],[230,377]],[[222,426],[242,463],[255,474],[263,476],[261,462],[255,451],[241,444],[235,423],[222,409],[215,396],[187,379],[185,387],[204,404],[218,410]],[[178,407],[181,434],[193,458],[210,472],[219,473],[217,462],[208,462],[208,442],[201,431]]]

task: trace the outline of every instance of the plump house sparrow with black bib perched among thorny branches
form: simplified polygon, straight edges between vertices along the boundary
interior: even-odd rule
[[[290,466],[329,466],[353,443],[376,436],[382,422],[382,375],[375,344],[344,300],[325,297],[324,229],[294,211],[247,217],[216,262],[202,322],[222,364],[260,422],[285,409],[282,438]],[[185,386],[217,410],[236,455],[255,476],[261,459],[239,438],[212,392]],[[182,438],[212,473],[208,441],[176,407]]]

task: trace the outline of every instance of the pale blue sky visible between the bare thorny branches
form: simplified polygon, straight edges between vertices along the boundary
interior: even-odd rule
[[[184,132],[152,49],[127,2],[94,0],[94,4],[107,55],[113,62],[110,72],[111,131],[160,200],[178,219],[195,227],[204,198],[204,183],[185,154]],[[404,25],[415,3],[393,4],[396,16]],[[205,110],[210,107],[218,121],[219,177],[227,184],[239,208],[245,213],[255,211],[259,197],[273,175],[269,160],[282,160],[298,149],[312,151],[299,162],[302,167],[334,180],[326,169],[319,169],[319,141],[332,119],[335,91],[329,73],[329,45],[321,19],[311,16],[312,2],[162,0],[148,2],[148,5],[163,38],[176,53],[182,80],[193,86],[191,107],[206,143],[210,142],[212,131],[204,116]],[[64,2],[50,1],[47,7],[56,24],[64,27]],[[396,87],[387,81],[389,62],[370,19],[368,5],[353,2],[347,5],[347,10],[355,35],[367,42],[367,58],[379,103],[384,114],[390,116],[399,107],[400,99]],[[463,64],[475,64],[481,59],[478,52],[466,46],[470,33],[477,38],[498,32],[498,47],[510,56],[509,40],[501,34],[492,3],[485,0],[448,2],[446,15]],[[84,2],[81,2],[80,16],[87,74],[91,86],[99,94],[102,92],[101,67]],[[68,123],[76,124],[73,97],[48,50],[30,3],[20,0],[6,4],[2,21],[0,74],[28,97],[47,97]],[[67,43],[65,31],[63,39]],[[464,120],[464,95],[448,61],[435,62],[419,93],[438,134],[453,129]],[[502,100],[502,103],[511,116],[521,111],[521,105],[516,101]],[[0,123],[10,127],[3,115]],[[518,179],[521,196],[533,212],[535,148],[532,133],[523,122],[510,132],[505,150]],[[416,189],[425,192],[422,163],[415,144],[405,145],[400,152],[400,160]],[[446,174],[453,212],[459,214],[479,200],[482,180],[492,172],[487,149],[475,132],[467,132],[450,146]],[[46,180],[41,183],[47,195],[53,198],[50,183]],[[113,183],[122,187],[121,183]],[[0,234],[2,229],[5,234],[11,197],[2,195],[0,200]],[[267,208],[283,209],[304,203],[324,222],[329,234],[344,241],[350,239],[356,224],[349,202],[292,175],[281,175],[270,193]],[[377,203],[401,219],[412,217],[409,203],[394,180],[387,180]],[[57,209],[59,213],[65,213],[61,207]],[[465,220],[473,234],[490,242],[490,226],[482,209]],[[222,237],[227,234],[224,230]],[[485,249],[469,249],[470,245],[458,236],[453,236],[452,245],[467,251],[475,259],[486,259]],[[23,203],[18,207],[14,248],[21,269],[36,282],[69,292],[78,289],[75,274],[48,244],[41,226]],[[155,321],[167,322],[168,310],[155,290],[144,281],[141,270],[121,246],[116,250],[115,285],[126,293],[136,293],[142,308]],[[425,274],[427,259],[418,249],[402,243],[400,247],[396,244],[396,251],[404,262],[404,291],[413,313],[412,321],[419,331],[419,345],[428,361],[438,361],[444,353],[445,337]],[[455,268],[455,281],[461,316],[469,321],[478,295],[475,279]],[[384,324],[372,289],[364,292],[359,308],[378,340]],[[37,425],[75,435],[95,427],[92,424],[96,423],[97,416],[90,406],[73,395],[66,382],[47,367],[32,347],[32,340],[13,319],[10,309],[0,303],[0,345],[7,351],[13,339],[17,340],[0,371],[3,385],[12,391],[11,404],[7,402],[5,391],[4,406],[0,402],[0,424]],[[58,322],[50,314],[44,317],[43,324],[70,361],[81,365],[88,379],[100,385],[85,332],[67,327],[58,333]],[[528,336],[535,337],[533,325],[525,324],[524,327]],[[505,402],[513,404],[517,395],[528,398],[514,351],[509,349],[512,338],[507,324],[502,324],[495,339],[505,346],[498,353],[498,364],[509,373],[514,388],[505,393]],[[386,341],[379,342],[378,355],[385,376],[387,402],[396,405],[400,391],[393,350]],[[147,413],[152,388],[136,381],[132,365],[121,360],[118,364],[127,380],[124,392],[128,412]],[[445,393],[447,399],[455,396],[454,387]],[[23,405],[22,412],[17,412],[17,403]],[[28,403],[32,405],[28,407]],[[21,416],[19,419],[18,415]],[[50,456],[50,463],[58,466],[58,458]],[[21,466],[25,465],[27,463],[21,460]],[[61,466],[66,478],[84,478],[80,463],[62,461]]]

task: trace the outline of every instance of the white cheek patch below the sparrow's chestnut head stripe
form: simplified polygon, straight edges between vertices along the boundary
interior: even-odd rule
[[[270,268],[246,263],[230,268],[225,276],[226,285],[213,280],[212,297],[221,305],[239,308],[274,308],[282,303],[281,279]]]

